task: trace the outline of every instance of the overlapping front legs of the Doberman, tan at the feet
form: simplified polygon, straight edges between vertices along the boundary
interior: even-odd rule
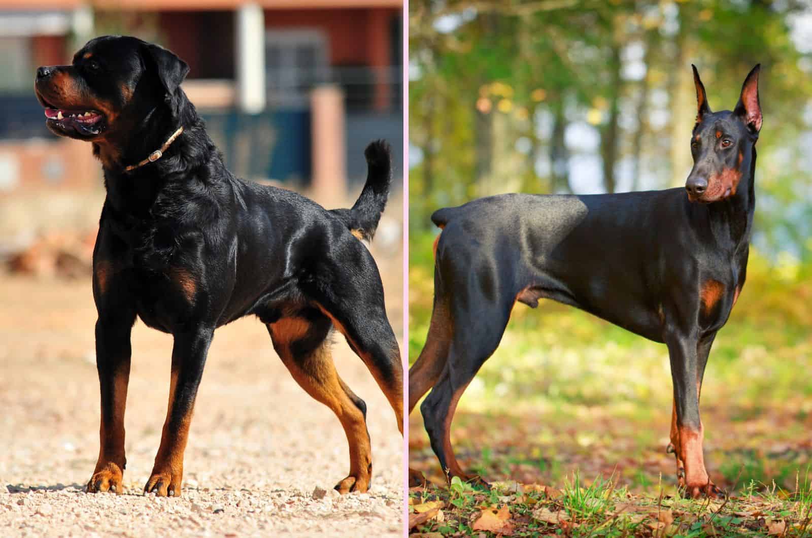
[[[711,342],[712,343],[712,338]],[[670,335],[666,338],[674,383],[672,447],[676,454],[677,478],[686,497],[723,496],[709,479],[702,454],[704,431],[699,418],[699,391],[710,343],[700,345],[696,336]],[[702,353],[703,360],[699,354]],[[684,466],[684,475],[680,472]]]

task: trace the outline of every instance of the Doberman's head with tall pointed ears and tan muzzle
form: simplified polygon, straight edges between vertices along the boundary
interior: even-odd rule
[[[705,86],[693,67],[697,87],[697,123],[691,135],[693,169],[685,182],[691,202],[719,202],[736,194],[742,176],[752,166],[753,146],[761,129],[758,103],[758,72],[753,68],[741,86],[741,96],[733,111],[711,112]]]

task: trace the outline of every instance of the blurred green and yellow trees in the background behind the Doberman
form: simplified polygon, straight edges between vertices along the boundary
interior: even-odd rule
[[[803,2],[409,7],[416,230],[430,228],[427,216],[439,206],[491,193],[680,185],[696,113],[689,64],[700,69],[712,108],[723,110],[762,63],[757,244],[774,258],[784,250],[812,258],[812,163],[802,145],[812,140],[812,58],[791,32],[793,17],[810,10]]]

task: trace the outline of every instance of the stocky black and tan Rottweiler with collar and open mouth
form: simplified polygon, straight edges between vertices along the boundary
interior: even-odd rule
[[[339,492],[365,492],[372,475],[366,406],[330,356],[337,328],[365,362],[403,431],[403,367],[384,310],[371,239],[387,202],[391,156],[369,167],[352,209],[235,178],[180,83],[188,66],[134,37],[97,37],[71,65],[40,67],[46,124],[90,141],[107,197],[93,251],[102,389],[101,449],[89,492],[122,492],[124,405],[136,316],[174,336],[161,446],[145,492],[179,496],[192,409],[214,329],[244,315],[265,323],[293,378],[338,415],[350,471]]]

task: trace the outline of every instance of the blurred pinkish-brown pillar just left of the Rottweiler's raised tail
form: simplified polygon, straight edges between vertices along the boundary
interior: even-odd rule
[[[326,85],[310,94],[313,159],[313,199],[335,206],[347,197],[344,95],[338,86]]]

